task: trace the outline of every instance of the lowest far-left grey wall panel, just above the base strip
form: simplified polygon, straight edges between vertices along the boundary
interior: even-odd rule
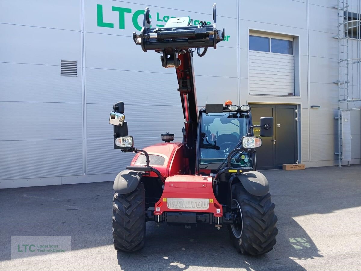
[[[0,141],[0,153],[0,179],[83,173],[81,139]]]

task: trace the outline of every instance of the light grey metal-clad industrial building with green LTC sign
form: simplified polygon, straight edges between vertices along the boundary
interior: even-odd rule
[[[113,149],[108,119],[120,100],[137,148],[160,142],[165,132],[182,141],[175,70],[164,69],[157,53],[144,53],[132,33],[146,6],[152,26],[161,27],[172,16],[213,22],[213,3],[2,0],[0,188],[113,180],[133,157]],[[218,2],[217,28],[226,37],[193,58],[198,106],[250,104],[255,122],[273,114],[275,138],[264,143],[267,159],[257,156],[264,169],[338,165],[339,158],[359,164],[360,6]]]

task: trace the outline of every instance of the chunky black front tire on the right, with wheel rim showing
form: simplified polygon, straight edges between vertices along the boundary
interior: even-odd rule
[[[276,244],[278,229],[270,193],[257,197],[249,194],[241,183],[236,183],[232,185],[232,208],[240,208],[238,218],[241,219],[238,221],[242,221],[229,226],[236,250],[254,256],[271,251]]]

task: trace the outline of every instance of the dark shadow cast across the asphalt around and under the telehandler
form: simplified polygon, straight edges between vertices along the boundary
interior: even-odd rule
[[[71,236],[72,250],[107,246],[125,271],[186,270],[190,266],[305,270],[293,260],[323,256],[293,218],[360,206],[360,171],[360,165],[263,171],[270,181],[279,234],[274,250],[261,257],[236,253],[226,228],[157,228],[152,222],[147,223],[143,250],[117,253],[112,247],[111,182],[3,189],[0,260],[10,259],[10,236]]]

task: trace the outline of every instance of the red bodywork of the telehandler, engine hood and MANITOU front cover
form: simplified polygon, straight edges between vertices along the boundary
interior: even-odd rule
[[[184,158],[183,143],[158,143],[144,150],[149,155],[157,155],[165,159],[163,165],[149,164],[165,179],[162,196],[154,206],[155,216],[159,218],[163,212],[184,211],[211,213],[215,217],[223,216],[222,205],[213,193],[212,177],[184,175],[189,169],[188,159]],[[134,156],[131,166],[139,166],[136,163],[139,155],[142,154]],[[158,177],[154,172],[146,172],[146,174],[150,177]]]

